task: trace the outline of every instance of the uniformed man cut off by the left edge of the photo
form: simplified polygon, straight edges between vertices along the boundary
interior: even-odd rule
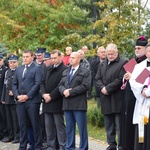
[[[0,55],[0,140],[7,136],[6,111],[4,104],[1,102],[4,77],[7,69],[8,68],[4,65],[3,56]]]

